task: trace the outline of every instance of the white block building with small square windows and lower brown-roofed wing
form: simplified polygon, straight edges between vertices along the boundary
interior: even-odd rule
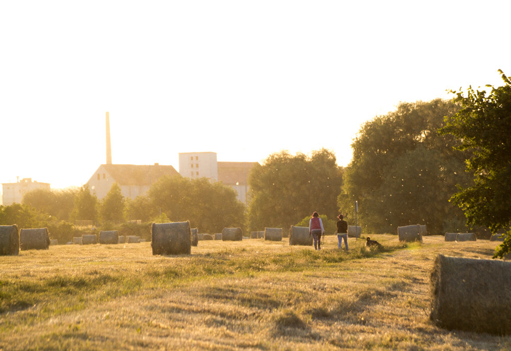
[[[238,194],[238,200],[246,203],[249,190],[250,169],[257,162],[218,162],[216,152],[179,153],[179,174],[183,177],[221,181]]]

